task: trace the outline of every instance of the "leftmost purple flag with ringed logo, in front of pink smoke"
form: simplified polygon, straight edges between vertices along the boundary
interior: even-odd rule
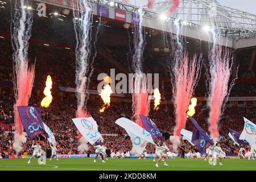
[[[18,111],[23,127],[30,139],[34,139],[41,134],[48,135],[46,131],[44,131],[42,109],[40,107],[18,106]]]

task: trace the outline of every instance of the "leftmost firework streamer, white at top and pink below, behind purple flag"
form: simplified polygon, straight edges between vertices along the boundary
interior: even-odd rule
[[[28,40],[31,37],[33,23],[32,11],[27,11],[25,6],[30,1],[15,1],[14,11],[11,12],[11,43],[14,49],[14,105],[15,133],[13,148],[16,152],[22,150],[22,143],[26,142],[23,134],[23,125],[18,113],[18,106],[28,105],[35,77],[35,65],[28,65],[27,50]]]

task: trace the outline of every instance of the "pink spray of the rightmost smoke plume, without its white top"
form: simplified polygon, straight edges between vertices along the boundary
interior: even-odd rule
[[[230,89],[234,82],[229,85],[229,78],[231,74],[232,64],[229,64],[231,51],[228,48],[222,50],[221,46],[216,46],[214,52],[210,48],[209,55],[209,96],[207,104],[210,109],[208,123],[210,136],[216,141],[219,137],[218,134],[218,121],[220,121],[222,111],[225,106],[225,97],[229,96]]]

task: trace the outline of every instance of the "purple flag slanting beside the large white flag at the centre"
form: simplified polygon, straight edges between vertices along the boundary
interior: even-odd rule
[[[160,133],[158,127],[156,126],[156,124],[154,123],[154,121],[152,121],[152,119],[146,117],[146,115],[141,115],[139,114],[139,117],[141,118],[141,121],[144,125],[145,130],[151,134],[152,139],[159,139],[161,141],[163,141],[163,136],[162,133]]]

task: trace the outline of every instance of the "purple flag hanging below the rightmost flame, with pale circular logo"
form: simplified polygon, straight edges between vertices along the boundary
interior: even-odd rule
[[[196,120],[192,117],[189,117],[189,119],[192,121],[194,127],[193,133],[192,133],[192,140],[191,142],[195,144],[197,148],[199,148],[201,155],[205,154],[206,149],[213,145],[213,139],[208,135],[206,131],[204,131],[199,124],[196,122]]]

